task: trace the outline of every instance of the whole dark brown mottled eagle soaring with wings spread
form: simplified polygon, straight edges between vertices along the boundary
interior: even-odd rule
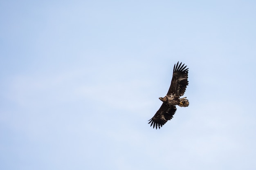
[[[153,128],[157,127],[160,129],[168,120],[173,118],[177,108],[175,105],[180,107],[189,106],[189,100],[186,97],[180,98],[184,95],[186,91],[186,86],[189,84],[188,81],[189,68],[186,68],[182,62],[179,64],[174,64],[173,67],[173,78],[171,80],[171,86],[168,93],[164,97],[159,97],[163,102],[162,106],[159,108],[157,113],[148,120]]]

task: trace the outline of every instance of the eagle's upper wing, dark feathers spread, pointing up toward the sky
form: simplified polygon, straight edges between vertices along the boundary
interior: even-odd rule
[[[186,68],[186,66],[181,65],[182,62],[179,65],[179,62],[177,62],[176,66],[174,64],[173,67],[173,78],[171,80],[171,86],[168,90],[167,95],[175,95],[175,96],[182,96],[184,95],[186,91],[186,86],[189,84],[188,81],[188,73],[189,68]],[[185,69],[186,68],[186,69]]]

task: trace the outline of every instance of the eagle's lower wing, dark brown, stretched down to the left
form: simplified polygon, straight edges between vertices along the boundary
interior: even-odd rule
[[[159,110],[157,110],[157,113],[149,120],[148,124],[151,123],[150,126],[153,125],[153,128],[157,129],[158,127],[160,129],[160,126],[162,127],[168,120],[173,118],[176,109],[175,106],[168,106],[163,103]]]

